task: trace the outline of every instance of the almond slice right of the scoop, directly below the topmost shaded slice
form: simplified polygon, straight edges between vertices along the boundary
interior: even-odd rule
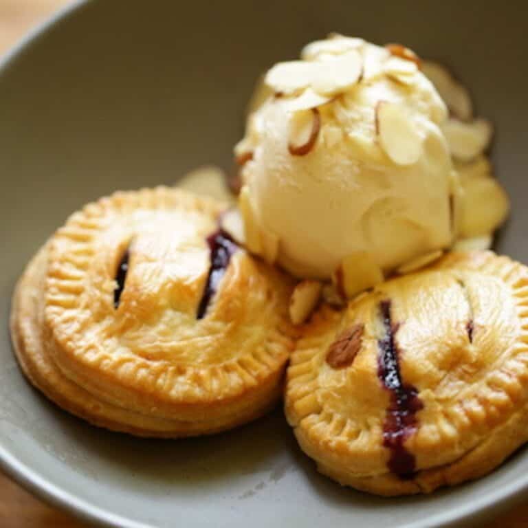
[[[470,123],[448,119],[441,129],[448,140],[452,156],[461,162],[470,162],[481,155],[492,140],[493,128],[485,119]]]

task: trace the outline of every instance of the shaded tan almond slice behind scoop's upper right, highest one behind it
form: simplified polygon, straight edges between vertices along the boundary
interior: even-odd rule
[[[473,104],[469,92],[445,67],[432,61],[423,61],[421,71],[437,89],[455,118],[464,121],[472,118]]]

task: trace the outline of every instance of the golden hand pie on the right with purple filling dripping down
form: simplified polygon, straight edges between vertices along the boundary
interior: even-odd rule
[[[382,495],[491,471],[528,440],[528,269],[450,254],[307,325],[286,414],[320,472]]]

